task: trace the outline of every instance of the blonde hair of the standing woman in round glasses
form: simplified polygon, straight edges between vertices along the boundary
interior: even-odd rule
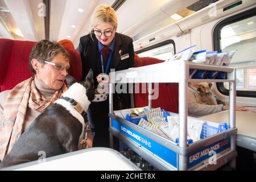
[[[101,22],[110,23],[117,28],[117,15],[115,10],[109,5],[100,5],[93,11],[92,18],[90,18],[92,28],[96,27]]]

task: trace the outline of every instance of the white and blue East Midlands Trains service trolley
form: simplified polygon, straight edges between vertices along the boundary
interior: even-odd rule
[[[191,79],[189,69],[221,71],[227,73],[225,80]],[[187,142],[187,86],[188,82],[229,82],[229,125],[228,129],[201,138],[195,143]],[[179,83],[179,143],[160,137],[113,114],[113,93],[115,84],[148,83],[151,93],[152,83]],[[151,94],[148,94],[151,107]],[[132,150],[141,155],[159,170],[214,170],[230,162],[236,164],[236,69],[213,65],[194,64],[188,61],[167,61],[164,63],[110,72],[109,117],[110,146],[113,135],[122,140]],[[205,121],[205,126],[216,123]],[[207,129],[207,128],[206,128]]]

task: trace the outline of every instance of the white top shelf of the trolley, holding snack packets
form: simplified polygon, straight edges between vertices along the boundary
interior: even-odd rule
[[[144,67],[130,68],[122,71],[111,72],[111,83],[146,83],[146,82],[180,82],[187,80],[188,82],[197,81],[199,79],[189,79],[189,69],[200,69],[209,71],[221,71],[228,73],[227,80],[208,80],[200,79],[205,82],[235,82],[236,78],[234,68],[218,67],[213,65],[195,64],[188,61],[168,61],[164,63],[147,65]]]

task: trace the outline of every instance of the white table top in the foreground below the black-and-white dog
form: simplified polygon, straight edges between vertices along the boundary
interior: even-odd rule
[[[94,147],[4,168],[5,170],[40,171],[138,171],[129,159],[111,148]]]

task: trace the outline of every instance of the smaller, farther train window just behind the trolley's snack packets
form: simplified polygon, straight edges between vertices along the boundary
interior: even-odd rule
[[[168,60],[175,55],[174,40],[167,40],[165,42],[155,44],[154,46],[141,49],[136,52],[139,57],[155,57],[160,60]]]

